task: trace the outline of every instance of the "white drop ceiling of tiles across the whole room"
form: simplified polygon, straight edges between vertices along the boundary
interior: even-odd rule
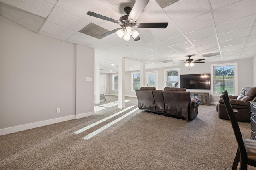
[[[119,57],[126,58],[125,70],[131,71],[140,70],[140,63],[146,69],[183,65],[181,60],[191,54],[208,63],[256,55],[256,0],[150,0],[137,22],[168,22],[166,29],[135,28],[139,41],[124,41],[116,33],[98,38],[81,33],[86,26],[104,31],[120,27],[88,16],[88,11],[119,20],[125,15],[124,7],[134,3],[0,0],[0,15],[39,35],[95,49],[102,73],[118,72]]]

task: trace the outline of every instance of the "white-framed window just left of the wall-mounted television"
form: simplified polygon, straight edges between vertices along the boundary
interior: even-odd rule
[[[165,86],[179,87],[180,86],[180,68],[168,69],[165,71]]]

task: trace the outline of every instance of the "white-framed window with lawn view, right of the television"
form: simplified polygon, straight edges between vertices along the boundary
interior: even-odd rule
[[[211,65],[211,93],[220,95],[222,90],[237,95],[237,63]]]

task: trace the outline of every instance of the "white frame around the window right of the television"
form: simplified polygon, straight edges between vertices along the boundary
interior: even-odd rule
[[[218,66],[230,66],[234,65],[234,95],[238,95],[238,69],[237,69],[237,62],[236,63],[223,63],[223,64],[212,64],[211,65],[211,95],[212,96],[220,96],[219,93],[214,93],[214,67]]]

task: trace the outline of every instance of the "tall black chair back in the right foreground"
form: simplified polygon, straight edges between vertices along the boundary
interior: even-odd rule
[[[244,170],[247,169],[247,163],[248,163],[248,158],[247,158],[247,153],[246,153],[246,149],[244,147],[244,141],[242,138],[242,134],[240,131],[240,128],[238,126],[238,123],[236,121],[236,117],[234,115],[234,111],[232,109],[232,106],[230,104],[230,100],[228,97],[228,92],[227,90],[222,91],[222,98],[224,101],[224,105],[226,107],[226,110],[228,112],[228,117],[230,119],[235,137],[236,137],[236,141],[238,144],[238,150],[240,152],[240,170]]]

